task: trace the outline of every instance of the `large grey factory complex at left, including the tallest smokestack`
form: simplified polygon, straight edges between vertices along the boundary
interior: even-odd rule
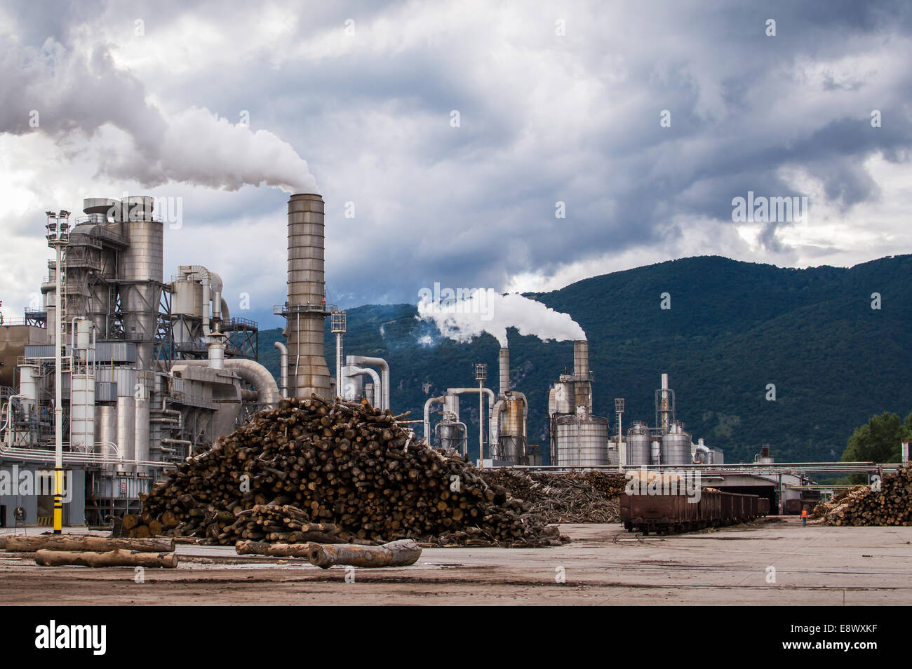
[[[138,510],[140,494],[174,462],[210,448],[281,396],[332,397],[336,389],[323,343],[331,309],[322,197],[288,201],[287,301],[274,309],[286,318],[286,343],[276,345],[281,393],[257,362],[257,324],[231,316],[218,273],[185,265],[165,282],[164,225],[153,198],[89,198],[83,213],[71,226],[67,211],[47,212],[48,243],[61,251],[59,266],[48,263],[42,307],[26,310],[21,324],[0,325],[7,526],[11,509],[25,510],[26,524],[51,515],[47,496],[3,482],[54,467],[57,347],[63,466],[74,481],[64,517],[74,525]],[[387,376],[378,390],[388,397],[389,369]]]

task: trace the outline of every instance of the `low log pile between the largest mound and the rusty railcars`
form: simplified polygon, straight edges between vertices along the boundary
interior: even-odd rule
[[[551,474],[487,469],[482,475],[549,523],[618,522],[617,497],[627,484],[623,474],[597,470]]]

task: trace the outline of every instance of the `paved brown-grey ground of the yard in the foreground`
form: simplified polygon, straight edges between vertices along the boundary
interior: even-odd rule
[[[354,582],[344,568],[225,547],[182,545],[178,569],[146,570],[141,583],[131,568],[0,553],[0,592],[5,604],[57,605],[912,604],[912,527],[777,520],[643,540],[619,525],[565,525],[575,541],[560,548],[426,549],[411,567],[355,570]]]

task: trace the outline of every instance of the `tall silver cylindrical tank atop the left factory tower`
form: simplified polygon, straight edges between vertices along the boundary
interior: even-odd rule
[[[122,230],[130,246],[120,254],[120,304],[125,338],[136,342],[136,365],[154,366],[152,352],[161,301],[164,228],[154,221],[155,199],[130,197],[122,201]],[[132,283],[135,282],[135,283]]]

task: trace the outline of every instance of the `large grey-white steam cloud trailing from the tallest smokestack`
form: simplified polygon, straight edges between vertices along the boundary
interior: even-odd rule
[[[290,144],[205,108],[164,113],[147,100],[137,77],[116,67],[106,46],[88,55],[53,39],[40,49],[12,46],[0,54],[0,77],[0,133],[44,132],[69,149],[74,132],[88,138],[105,126],[125,132],[131,141],[114,145],[113,154],[106,150],[100,161],[99,171],[110,177],[146,188],[177,181],[318,192],[306,160]]]

